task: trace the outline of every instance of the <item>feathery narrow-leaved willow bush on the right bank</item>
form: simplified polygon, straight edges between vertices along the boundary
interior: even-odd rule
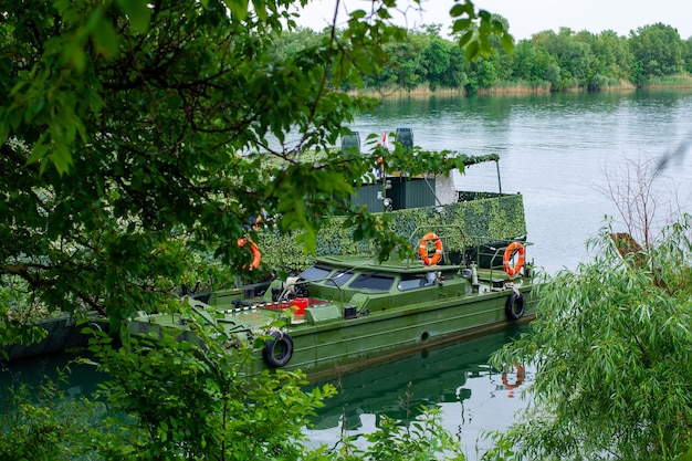
[[[672,460],[692,441],[692,227],[647,252],[599,253],[542,292],[530,333],[493,357],[533,362],[535,405],[504,436],[527,459]]]

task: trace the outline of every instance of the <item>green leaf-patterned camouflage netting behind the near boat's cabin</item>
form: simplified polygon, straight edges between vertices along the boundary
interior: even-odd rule
[[[524,201],[521,195],[487,195],[441,207],[397,210],[388,213],[398,235],[417,247],[428,232],[438,233],[445,250],[463,252],[465,247],[526,237]],[[355,242],[345,219],[336,218],[319,230],[317,255],[356,254],[375,250],[374,242]],[[304,269],[310,258],[295,234],[280,235],[268,228],[259,243],[262,264],[274,270]]]

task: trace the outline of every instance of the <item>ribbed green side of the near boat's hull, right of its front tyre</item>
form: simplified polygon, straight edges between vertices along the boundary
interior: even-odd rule
[[[430,305],[405,305],[380,313],[307,327],[286,328],[293,355],[286,369],[318,378],[390,359],[412,349],[506,328],[535,317],[531,287],[523,291],[526,310],[521,318],[506,313],[511,290]],[[317,307],[318,308],[318,307]],[[252,373],[266,367],[255,353]]]

